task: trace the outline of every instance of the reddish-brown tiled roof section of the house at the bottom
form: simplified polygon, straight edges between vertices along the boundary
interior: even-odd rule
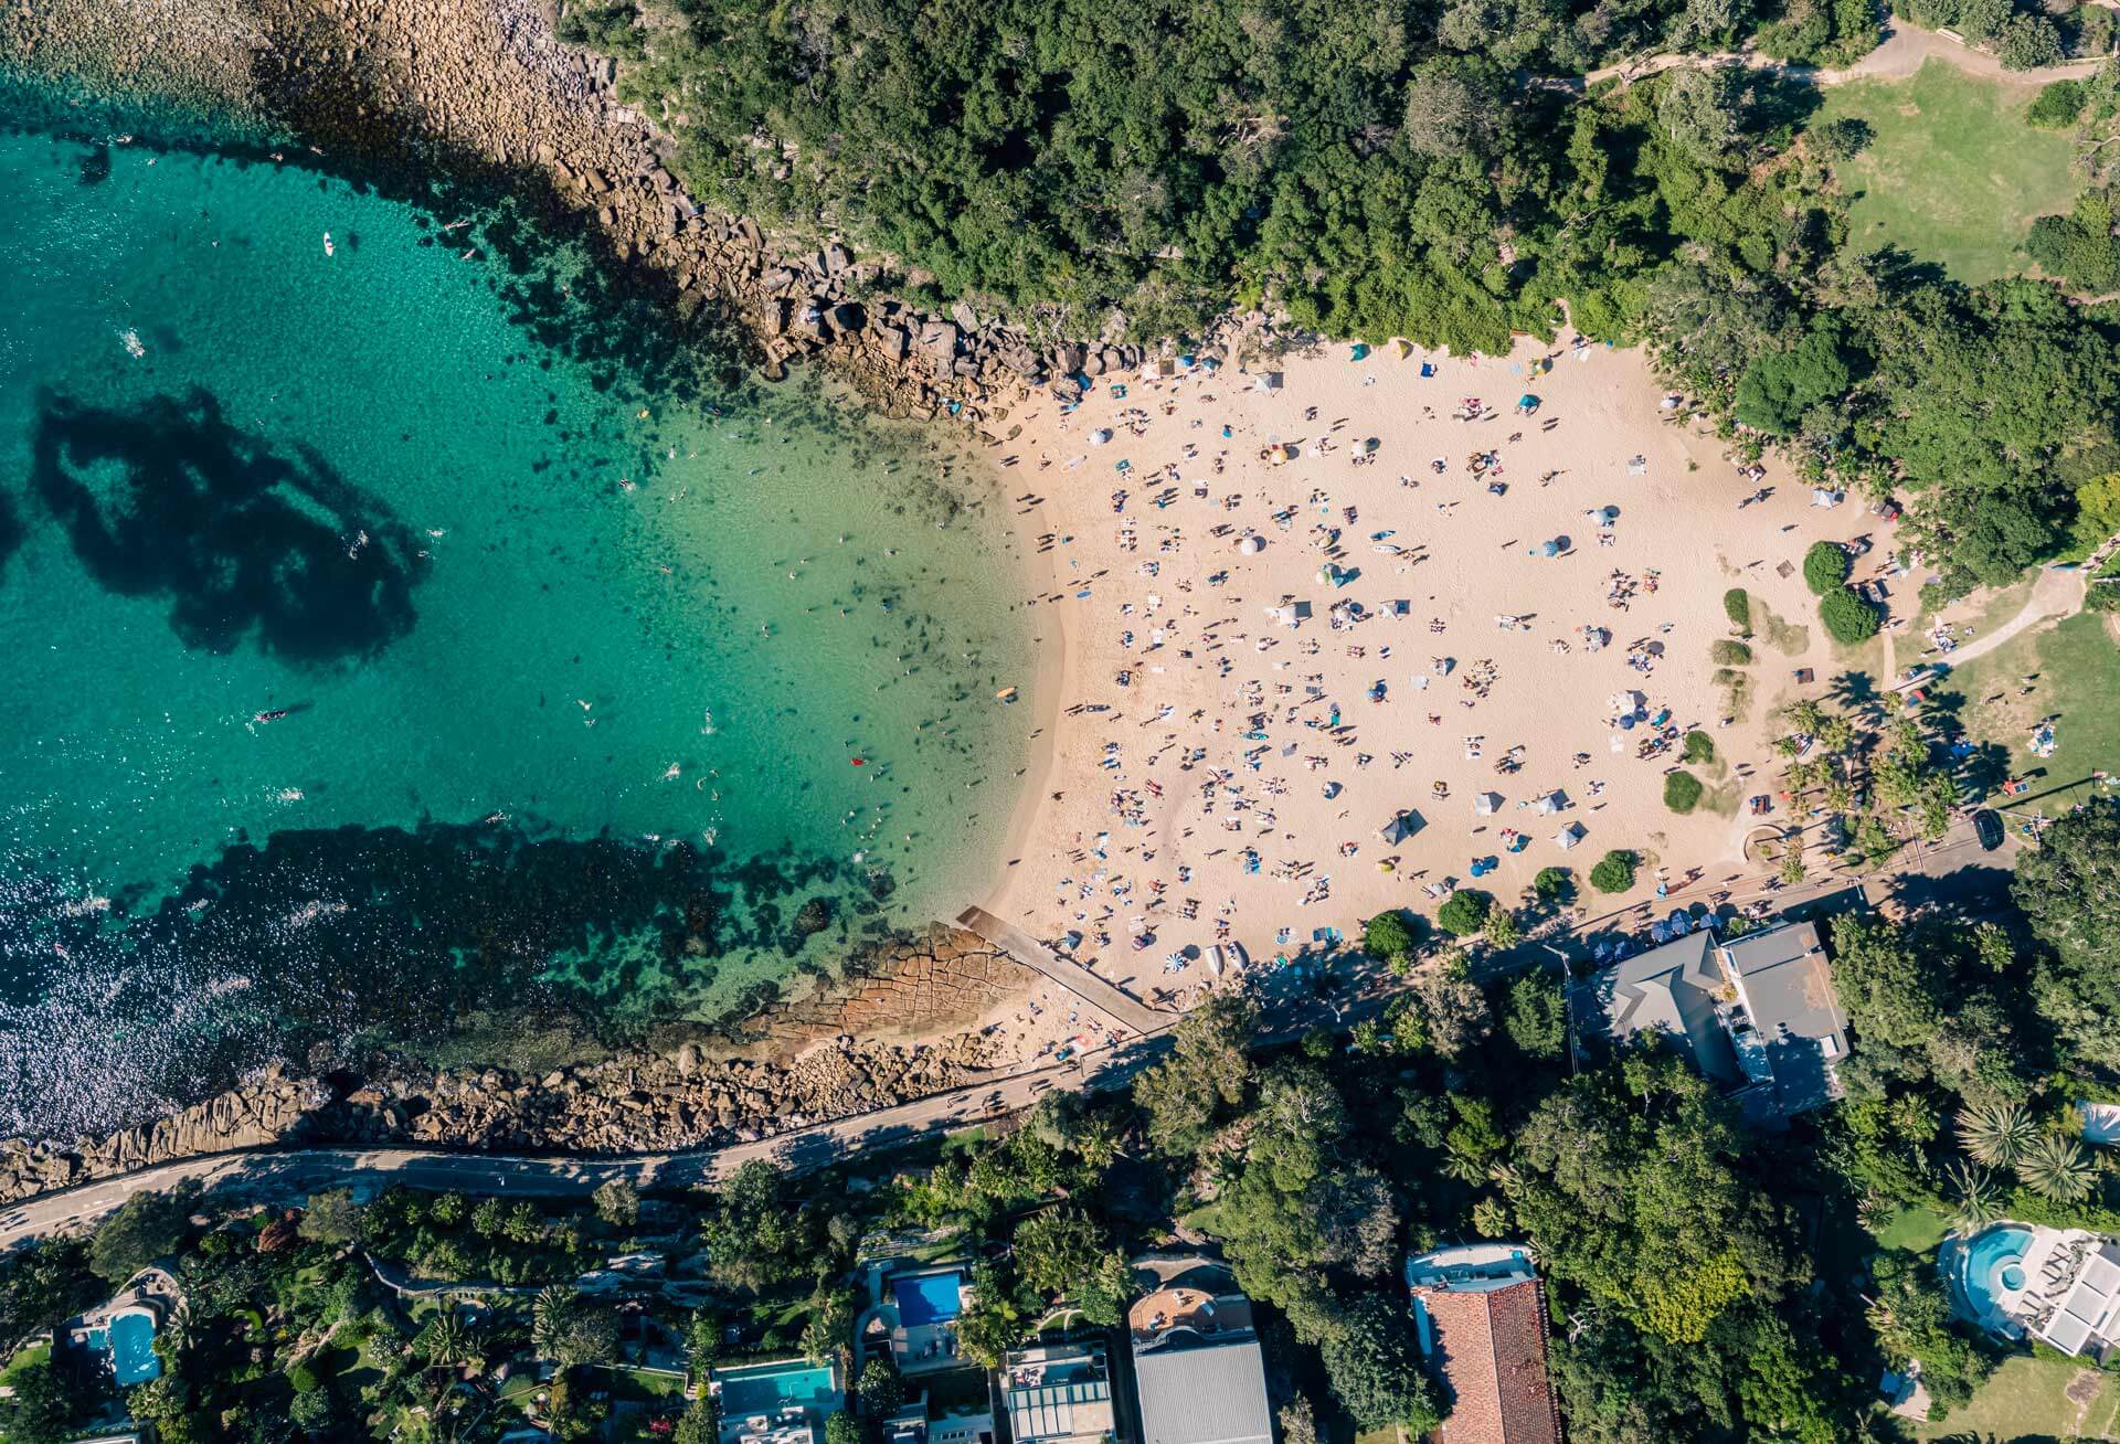
[[[1456,1395],[1437,1444],[1560,1444],[1545,1380],[1545,1300],[1537,1281],[1488,1293],[1414,1289],[1429,1313],[1433,1363]]]

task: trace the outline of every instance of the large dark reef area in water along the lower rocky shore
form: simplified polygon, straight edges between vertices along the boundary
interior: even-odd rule
[[[778,986],[708,1011],[721,958],[778,952],[797,971],[837,973],[882,939],[861,903],[818,916],[818,893],[852,882],[840,871],[831,859],[731,863],[691,844],[424,823],[242,842],[153,903],[91,912],[61,888],[17,888],[0,901],[0,997],[13,999],[0,1007],[0,1098],[13,1100],[0,1134],[129,1122],[155,1098],[191,1103],[282,1058],[365,1067],[473,1020],[488,1041],[496,1026],[564,1026],[606,1043],[736,1022]],[[81,1088],[112,1071],[123,1096]]]

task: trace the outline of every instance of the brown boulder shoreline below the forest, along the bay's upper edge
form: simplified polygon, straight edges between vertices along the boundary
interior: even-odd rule
[[[1032,386],[1141,363],[1138,346],[1032,346],[958,301],[878,293],[842,240],[767,235],[702,210],[670,142],[613,95],[615,66],[553,36],[534,0],[11,0],[0,64],[155,93],[290,134],[363,165],[481,172],[594,216],[608,254],[676,316],[736,320],[767,377],[808,360],[890,416],[952,418],[984,441]]]

